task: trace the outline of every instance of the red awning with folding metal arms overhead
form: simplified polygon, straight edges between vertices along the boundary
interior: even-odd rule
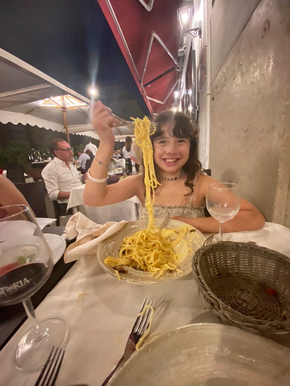
[[[152,0],[145,2],[149,4]],[[174,85],[179,79],[177,51],[180,25],[177,8],[181,6],[182,0],[155,0],[150,12],[138,0],[98,0],[98,3],[149,111],[153,115],[170,107],[174,103]],[[157,37],[153,39],[142,80],[152,32]],[[175,60],[165,51],[159,39]],[[164,73],[166,74],[161,76]],[[164,103],[148,100],[147,97]]]

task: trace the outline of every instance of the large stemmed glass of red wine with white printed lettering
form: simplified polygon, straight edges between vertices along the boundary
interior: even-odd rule
[[[22,302],[33,325],[20,339],[14,355],[16,367],[27,372],[41,369],[52,347],[63,347],[68,338],[64,320],[38,322],[30,299],[52,269],[52,252],[30,208],[0,207],[0,306]]]

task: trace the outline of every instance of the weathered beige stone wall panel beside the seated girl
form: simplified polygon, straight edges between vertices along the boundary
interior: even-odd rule
[[[241,194],[271,221],[285,106],[289,103],[290,2],[262,0],[211,87],[212,174],[240,183]]]

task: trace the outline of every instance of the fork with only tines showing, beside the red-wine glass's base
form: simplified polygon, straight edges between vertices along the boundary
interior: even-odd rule
[[[59,347],[56,347],[55,349],[55,346],[53,346],[34,386],[54,386],[64,355],[65,351]]]

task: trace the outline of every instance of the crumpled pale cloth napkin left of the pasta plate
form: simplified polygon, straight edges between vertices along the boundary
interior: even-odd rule
[[[65,233],[62,237],[65,240],[77,238],[77,241],[68,245],[64,261],[69,263],[96,253],[97,245],[107,237],[118,232],[128,221],[109,221],[106,224],[96,224],[80,212],[75,213],[67,222]]]

